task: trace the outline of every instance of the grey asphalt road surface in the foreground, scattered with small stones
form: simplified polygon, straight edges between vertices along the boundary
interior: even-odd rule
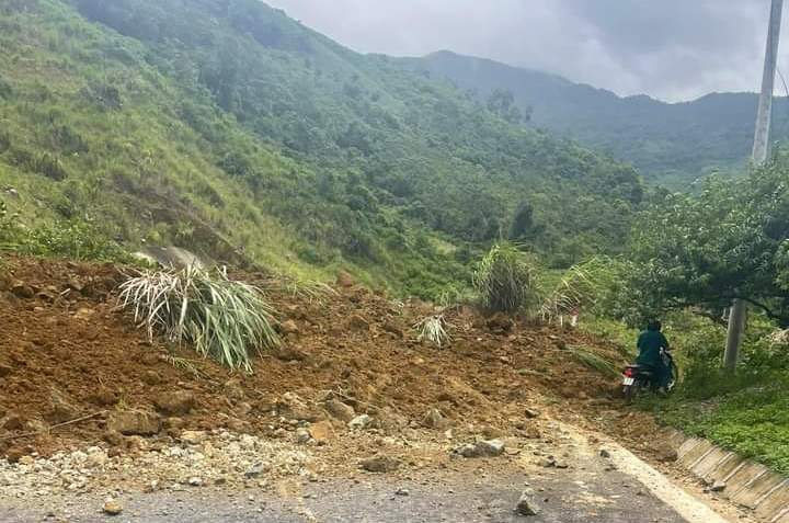
[[[483,475],[484,474],[484,475]],[[534,491],[537,516],[517,515],[524,489]],[[400,490],[400,493],[398,493]],[[449,474],[425,481],[364,476],[354,480],[291,482],[279,492],[222,492],[193,488],[119,498],[121,515],[101,512],[103,499],[77,497],[52,505],[0,511],[0,522],[684,522],[676,512],[618,471],[601,476],[590,470],[546,470],[539,477],[495,471]]]

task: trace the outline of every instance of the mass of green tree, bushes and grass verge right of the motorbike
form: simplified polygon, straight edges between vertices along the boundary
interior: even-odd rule
[[[696,195],[666,195],[638,221],[617,298],[607,312],[633,326],[666,318],[683,368],[667,401],[648,398],[665,422],[789,473],[789,157],[737,180],[709,180]],[[750,304],[735,374],[721,368],[722,312]],[[606,325],[626,346],[634,332]]]

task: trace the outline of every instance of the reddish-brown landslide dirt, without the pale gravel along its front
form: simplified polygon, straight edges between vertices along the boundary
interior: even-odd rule
[[[540,418],[529,419],[526,409],[562,416],[618,406],[616,380],[581,365],[565,348],[620,356],[580,332],[525,322],[507,330],[461,308],[447,312],[453,340],[439,350],[411,332],[431,311],[424,304],[402,306],[348,285],[322,304],[274,289],[272,300],[291,332],[282,350],[256,359],[252,375],[241,375],[187,349],[149,342],[116,310],[114,288],[124,276],[113,265],[0,261],[7,274],[0,280],[0,452],[8,455],[49,455],[103,439],[124,450],[135,439],[107,437],[110,412],[153,412],[157,399],[179,390],[194,393],[196,406],[178,419],[163,418],[158,439],[215,428],[282,436],[295,416],[286,393],[302,399],[315,419],[331,419],[322,401],[340,399],[378,420],[381,434],[421,427],[428,410],[438,409],[456,433],[539,437]],[[35,296],[16,297],[28,295],[20,286]],[[23,436],[28,432],[41,434]]]

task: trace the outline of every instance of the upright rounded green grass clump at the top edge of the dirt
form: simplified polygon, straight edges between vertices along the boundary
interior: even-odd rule
[[[498,312],[517,312],[537,295],[536,270],[512,243],[493,246],[478,265],[473,284],[483,305]]]

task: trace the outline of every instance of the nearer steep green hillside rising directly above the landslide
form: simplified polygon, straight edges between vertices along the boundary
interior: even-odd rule
[[[554,265],[616,252],[643,197],[630,167],[258,0],[5,0],[0,47],[0,182],[31,227],[432,296],[500,236]]]

